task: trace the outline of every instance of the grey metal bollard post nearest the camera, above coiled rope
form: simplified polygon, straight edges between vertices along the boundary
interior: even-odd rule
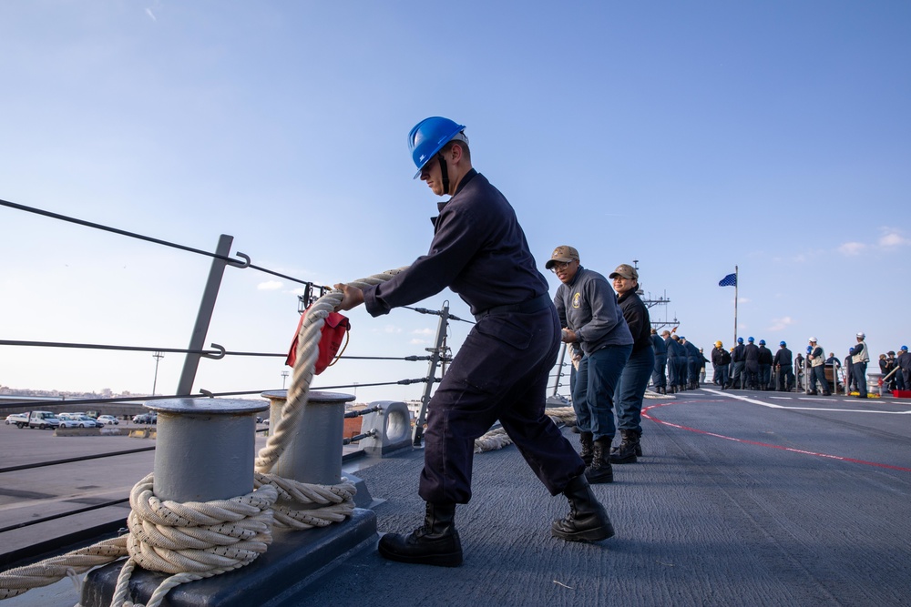
[[[158,413],[155,495],[161,500],[227,500],[253,491],[258,400],[168,399]]]

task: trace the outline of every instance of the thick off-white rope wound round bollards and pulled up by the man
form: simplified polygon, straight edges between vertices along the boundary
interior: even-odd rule
[[[348,284],[363,288],[380,284],[404,268],[389,270]],[[128,535],[100,541],[25,567],[0,572],[0,600],[33,588],[128,557],[118,575],[112,607],[142,607],[128,601],[130,577],[142,569],[169,573],[149,597],[146,607],[158,607],[165,595],[185,582],[201,580],[240,569],[265,552],[272,541],[273,525],[294,530],[325,527],[344,521],[353,512],[353,483],[343,479],[333,486],[300,483],[270,474],[287,448],[293,431],[304,418],[313,378],[322,326],[329,312],[342,302],[333,290],[311,306],[298,333],[297,360],[292,386],[277,424],[255,461],[254,491],[247,495],[206,502],[161,501],[149,474],[130,491]],[[312,510],[295,510],[276,502],[316,504]]]

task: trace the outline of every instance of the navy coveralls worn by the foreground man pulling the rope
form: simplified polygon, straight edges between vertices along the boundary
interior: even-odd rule
[[[432,503],[467,503],[475,440],[498,419],[551,495],[585,470],[545,414],[560,327],[548,282],[537,270],[516,212],[474,169],[440,203],[427,255],[363,289],[372,316],[451,288],[477,323],[430,400],[419,493]]]

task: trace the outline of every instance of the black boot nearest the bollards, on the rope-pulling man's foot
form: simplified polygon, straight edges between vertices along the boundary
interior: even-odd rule
[[[428,501],[424,526],[408,535],[386,533],[380,538],[378,551],[390,561],[458,567],[462,564],[462,542],[455,531],[455,503]]]

